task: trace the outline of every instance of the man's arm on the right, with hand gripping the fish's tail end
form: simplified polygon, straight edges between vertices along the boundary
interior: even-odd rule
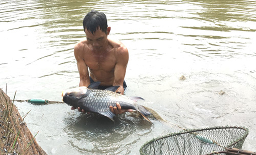
[[[125,48],[124,46],[121,46],[118,51],[116,51],[116,59],[117,59],[117,63],[115,65],[115,70],[114,70],[114,82],[113,82],[113,86],[114,85],[120,85],[120,87],[117,89],[116,92],[120,92],[121,94],[124,94],[124,79],[125,79],[125,73],[126,73],[126,67],[128,64],[128,60],[129,60],[129,53],[127,48]],[[110,110],[114,113],[114,114],[122,114],[125,113],[127,111],[131,112],[132,110],[122,110],[121,106],[119,103],[117,103],[117,106],[110,106],[109,107]]]

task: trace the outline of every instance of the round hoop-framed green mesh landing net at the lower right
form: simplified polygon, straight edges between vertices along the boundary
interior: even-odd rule
[[[244,127],[186,130],[153,139],[140,148],[141,155],[206,155],[226,148],[241,149],[248,135]],[[222,155],[225,155],[223,153]]]

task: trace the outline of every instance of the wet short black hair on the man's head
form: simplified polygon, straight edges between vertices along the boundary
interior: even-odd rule
[[[107,34],[107,17],[103,12],[92,10],[85,15],[83,20],[83,27],[84,32],[85,29],[87,29],[88,31],[91,31],[92,34],[94,34],[98,27],[100,27],[100,30]]]

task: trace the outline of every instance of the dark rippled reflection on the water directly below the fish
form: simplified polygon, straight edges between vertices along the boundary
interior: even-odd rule
[[[86,154],[121,152],[138,140],[134,133],[146,136],[151,131],[150,123],[129,114],[115,118],[115,122],[100,115],[75,114],[64,118],[64,122],[69,145]],[[131,137],[132,140],[128,140]]]

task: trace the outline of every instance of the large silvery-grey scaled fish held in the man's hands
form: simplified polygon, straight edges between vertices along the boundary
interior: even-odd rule
[[[148,122],[152,123],[146,116],[151,115],[143,106],[136,104],[138,100],[144,100],[141,97],[127,97],[116,93],[119,86],[111,86],[105,90],[98,90],[100,82],[93,82],[88,87],[81,86],[62,93],[62,100],[66,104],[74,107],[80,107],[86,112],[93,112],[104,115],[112,121],[115,116],[109,109],[109,106],[116,106],[119,102],[122,109],[133,109],[138,111]]]

